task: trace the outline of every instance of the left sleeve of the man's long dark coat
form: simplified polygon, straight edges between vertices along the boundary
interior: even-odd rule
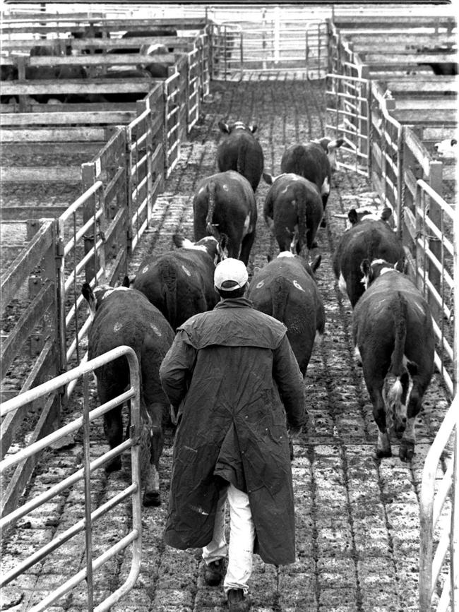
[[[161,385],[174,408],[186,395],[196,361],[196,349],[186,339],[186,332],[177,333],[160,366]]]

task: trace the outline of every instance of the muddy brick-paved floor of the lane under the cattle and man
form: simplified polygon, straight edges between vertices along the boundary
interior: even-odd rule
[[[325,133],[324,90],[319,82],[256,79],[242,83],[213,83],[203,104],[203,116],[181,160],[158,198],[150,229],[134,253],[129,273],[135,275],[145,257],[172,248],[171,236],[192,238],[192,198],[199,179],[216,171],[215,150],[220,140],[217,122],[240,119],[258,125],[258,138],[268,172],[280,172],[287,145]],[[257,237],[249,272],[277,254],[277,245],[263,223],[262,208],[268,186],[261,182]],[[417,446],[411,462],[393,457],[374,458],[376,425],[362,370],[354,360],[350,323],[352,310],[338,291],[331,259],[345,222],[333,217],[352,206],[378,205],[376,194],[363,176],[338,170],[328,200],[328,227],[318,232],[322,255],[318,285],[326,307],[326,335],[316,346],[306,373],[309,426],[294,445],[292,470],[297,524],[297,561],[276,568],[258,556],[250,587],[254,612],[415,612],[418,605],[419,488],[424,458],[448,407],[448,397],[435,374],[417,418]],[[95,390],[91,389],[95,405]],[[64,422],[81,414],[76,392]],[[133,590],[114,612],[199,612],[227,609],[221,587],[203,581],[201,551],[176,551],[162,542],[171,473],[173,431],[167,430],[160,462],[162,505],[143,509],[143,561]],[[93,428],[93,455],[106,450],[102,425]],[[81,438],[49,450],[27,491],[28,498],[81,467]],[[122,472],[93,474],[93,504],[100,505],[129,481],[128,458]],[[444,467],[444,466],[443,466]],[[3,567],[7,570],[76,520],[84,516],[83,485],[35,510],[5,534]],[[121,539],[131,524],[130,504],[97,521],[93,529],[95,555]],[[282,529],[282,524],[278,526]],[[38,563],[4,589],[2,609],[25,611],[58,587],[72,572],[84,567],[84,536],[76,536],[48,560]],[[95,603],[117,589],[129,574],[131,554],[120,553],[95,572]],[[53,612],[88,609],[85,584],[61,598]]]

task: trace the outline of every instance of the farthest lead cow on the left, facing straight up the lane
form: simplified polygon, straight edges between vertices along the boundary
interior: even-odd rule
[[[263,150],[254,136],[257,126],[246,126],[242,121],[236,121],[234,124],[219,121],[218,127],[222,133],[227,134],[227,138],[217,148],[219,171],[239,172],[256,191],[263,172]]]

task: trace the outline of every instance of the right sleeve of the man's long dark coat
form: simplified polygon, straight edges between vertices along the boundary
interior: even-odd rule
[[[304,425],[306,419],[304,379],[285,335],[274,349],[273,377],[291,427]]]

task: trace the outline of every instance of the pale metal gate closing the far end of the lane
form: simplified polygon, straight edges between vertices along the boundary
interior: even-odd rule
[[[295,73],[325,78],[328,30],[323,20],[282,19],[280,8],[263,8],[257,23],[213,24],[214,80],[241,80],[252,74]]]

